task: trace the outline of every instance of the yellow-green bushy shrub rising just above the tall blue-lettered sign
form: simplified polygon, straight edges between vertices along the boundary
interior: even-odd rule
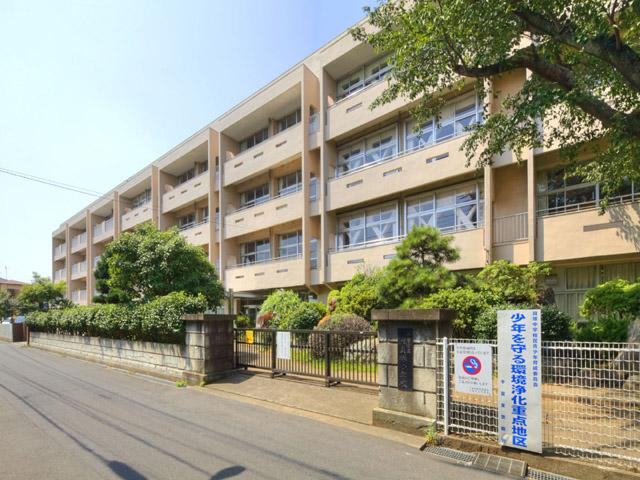
[[[478,273],[480,290],[493,297],[492,303],[538,303],[544,291],[544,279],[551,273],[548,263],[531,262],[516,265],[508,260],[495,260]]]

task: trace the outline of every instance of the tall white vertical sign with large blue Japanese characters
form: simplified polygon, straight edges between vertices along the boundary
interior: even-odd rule
[[[540,310],[498,311],[498,441],[542,453]]]

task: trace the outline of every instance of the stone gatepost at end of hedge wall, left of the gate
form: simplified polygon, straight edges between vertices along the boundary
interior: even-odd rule
[[[212,382],[235,368],[233,321],[235,315],[185,315],[185,357],[191,359],[183,378],[189,384]]]

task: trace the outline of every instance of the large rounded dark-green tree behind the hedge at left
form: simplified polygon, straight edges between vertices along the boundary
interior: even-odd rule
[[[107,245],[97,265],[102,302],[150,301],[172,292],[202,294],[210,308],[224,289],[204,251],[177,229],[159,231],[151,222]]]

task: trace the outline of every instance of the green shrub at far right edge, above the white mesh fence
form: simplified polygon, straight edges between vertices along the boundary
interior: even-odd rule
[[[618,279],[587,290],[580,314],[583,317],[596,314],[640,316],[640,283]]]

